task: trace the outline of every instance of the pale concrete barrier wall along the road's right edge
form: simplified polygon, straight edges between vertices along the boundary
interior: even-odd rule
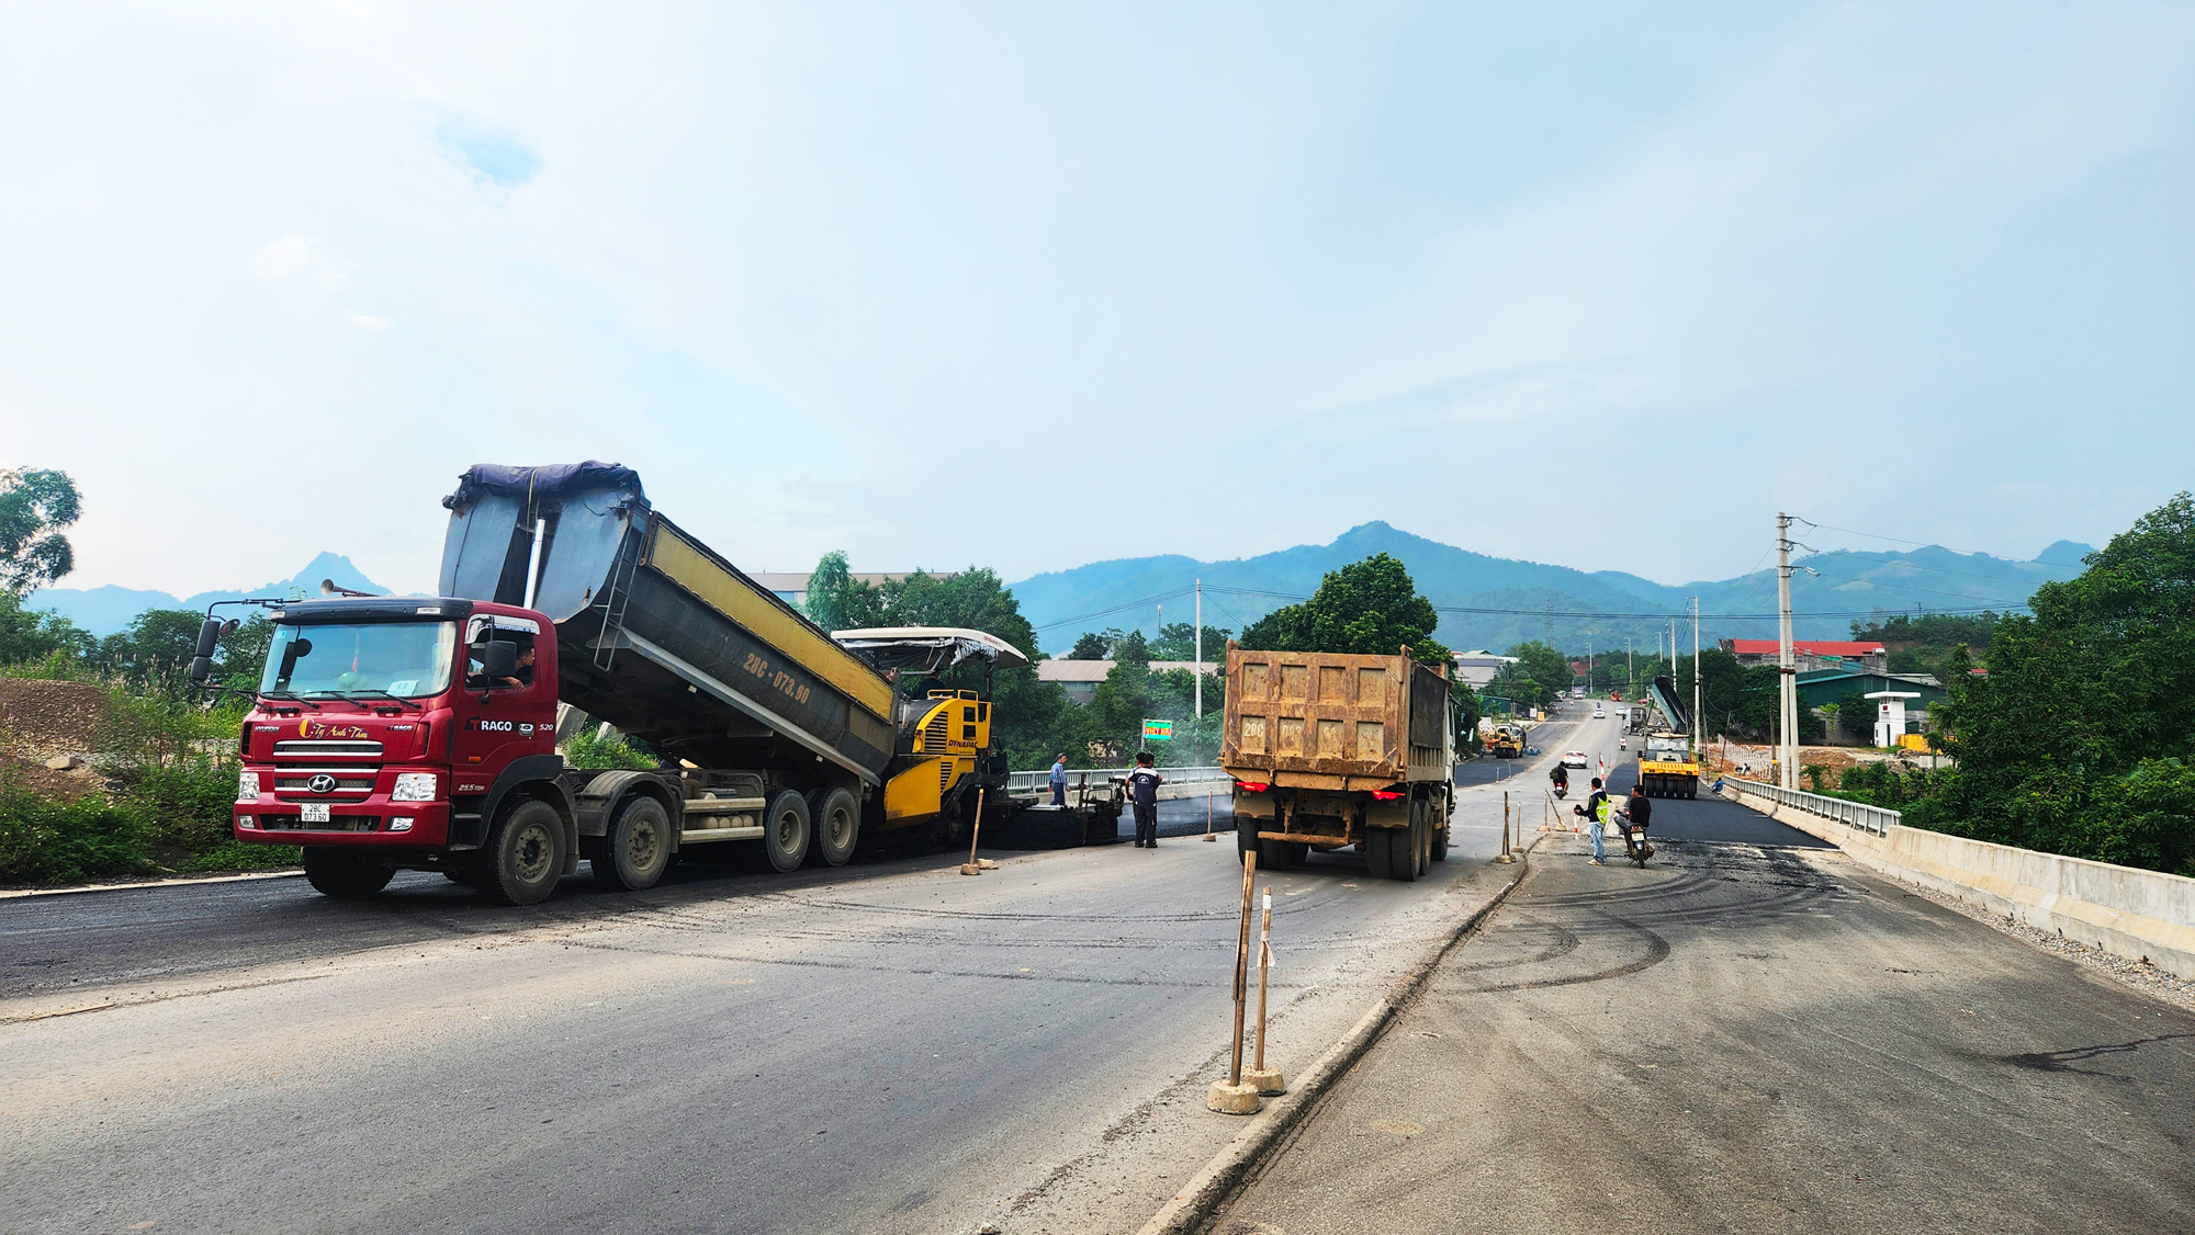
[[[2195,981],[2195,880],[1905,825],[1875,836],[1767,798],[1738,801],[1894,880]]]

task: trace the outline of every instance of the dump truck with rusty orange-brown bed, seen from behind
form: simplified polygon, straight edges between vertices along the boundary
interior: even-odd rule
[[[1449,856],[1455,704],[1405,656],[1227,647],[1220,768],[1236,845],[1286,871],[1354,845],[1374,877],[1416,880]]]

